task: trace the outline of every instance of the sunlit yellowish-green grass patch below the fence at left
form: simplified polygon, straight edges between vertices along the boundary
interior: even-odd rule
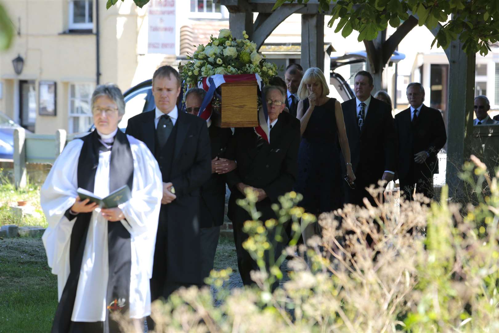
[[[26,215],[21,220],[12,215],[10,206],[21,200],[28,200],[28,205],[34,207],[35,212],[40,216]],[[19,227],[42,226],[46,228],[48,226],[40,207],[40,187],[28,184],[26,188],[16,190],[8,178],[0,172],[0,226],[7,224],[15,224]]]

